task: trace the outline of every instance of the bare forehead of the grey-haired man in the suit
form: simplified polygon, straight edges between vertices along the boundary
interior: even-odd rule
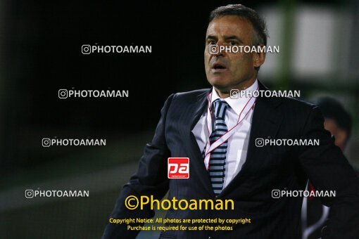
[[[207,28],[208,34],[243,34],[251,32],[252,25],[248,19],[237,15],[225,15],[214,18]]]

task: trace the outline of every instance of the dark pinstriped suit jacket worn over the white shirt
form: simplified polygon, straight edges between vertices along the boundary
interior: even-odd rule
[[[260,84],[260,83],[259,83]],[[260,84],[260,89],[266,89]],[[172,94],[161,110],[151,144],[147,144],[137,173],[122,188],[111,217],[151,218],[153,210],[129,210],[128,195],[168,198],[215,199],[203,157],[191,130],[206,110],[209,89]],[[160,238],[300,238],[303,198],[272,198],[272,190],[305,190],[309,178],[317,190],[336,190],[336,197],[322,198],[331,207],[322,238],[359,238],[358,178],[323,127],[315,105],[293,98],[257,98],[253,112],[246,162],[241,171],[218,196],[234,200],[234,210],[175,210],[175,219],[239,219],[233,231],[166,231]],[[265,146],[257,148],[256,138],[313,138],[320,146]],[[168,157],[189,157],[189,179],[168,179]],[[109,224],[103,238],[134,238],[138,231],[126,225]],[[356,236],[356,237],[355,237]]]

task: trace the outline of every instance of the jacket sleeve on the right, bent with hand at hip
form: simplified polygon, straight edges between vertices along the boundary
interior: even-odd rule
[[[308,115],[303,138],[319,139],[320,146],[301,148],[299,160],[315,190],[334,190],[335,197],[322,197],[330,207],[322,238],[359,238],[359,180],[340,148],[334,145],[316,106]]]

